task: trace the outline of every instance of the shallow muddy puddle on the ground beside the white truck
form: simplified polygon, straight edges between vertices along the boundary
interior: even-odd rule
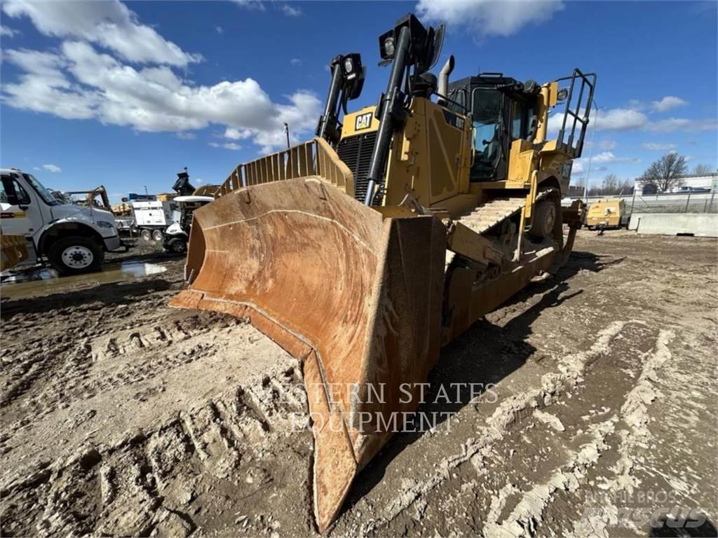
[[[166,267],[157,263],[124,262],[105,265],[103,270],[98,273],[60,277],[54,269],[39,268],[12,275],[3,280],[0,286],[0,296],[8,299],[45,296],[61,288],[122,282],[164,273],[166,270]]]

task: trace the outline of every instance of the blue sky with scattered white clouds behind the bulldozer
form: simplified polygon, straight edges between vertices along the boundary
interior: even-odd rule
[[[581,183],[640,175],[666,151],[718,167],[716,2],[11,2],[1,13],[0,164],[47,186],[169,190],[188,166],[219,183],[312,136],[337,53],[360,52],[376,103],[377,37],[408,11],[446,22],[452,77],[478,69],[546,82],[597,72],[595,144]],[[588,139],[590,139],[590,134]]]

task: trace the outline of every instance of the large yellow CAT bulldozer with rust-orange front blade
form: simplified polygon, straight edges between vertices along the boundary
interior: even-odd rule
[[[582,222],[560,200],[595,75],[449,82],[453,57],[429,72],[443,35],[399,19],[379,39],[386,92],[353,113],[365,68],[335,57],[317,137],[240,164],[197,209],[171,302],[248,318],[302,363],[320,532],[442,345],[565,263]]]

